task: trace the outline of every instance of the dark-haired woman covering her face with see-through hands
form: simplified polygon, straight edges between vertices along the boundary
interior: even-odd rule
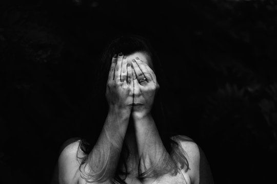
[[[95,99],[107,100],[100,108],[107,111],[105,119],[97,119],[105,123],[94,141],[64,144],[59,182],[213,183],[201,149],[189,137],[168,134],[163,91],[157,93],[163,74],[149,42],[120,37],[106,48],[101,63]]]

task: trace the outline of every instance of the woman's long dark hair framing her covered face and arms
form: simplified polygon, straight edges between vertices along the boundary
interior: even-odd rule
[[[155,95],[151,114],[155,121],[157,130],[159,131],[159,134],[161,136],[163,145],[166,148],[166,151],[173,158],[174,165],[176,166],[174,168],[173,173],[176,175],[177,172],[179,172],[178,169],[183,169],[184,167],[186,167],[186,171],[187,171],[189,169],[189,165],[188,165],[188,160],[185,156],[186,155],[185,151],[182,148],[180,148],[180,144],[178,144],[176,140],[174,141],[170,139],[170,137],[174,134],[172,133],[172,131],[170,131],[170,126],[167,123],[167,119],[166,119],[167,116],[164,111],[164,106],[162,103],[162,99],[164,99],[163,97],[165,97],[165,91],[166,91],[165,88],[167,86],[166,85],[167,82],[163,75],[161,62],[156,52],[152,48],[150,42],[147,39],[138,35],[125,35],[111,41],[111,43],[104,50],[102,58],[97,63],[98,68],[100,68],[100,70],[98,70],[97,73],[95,73],[94,81],[96,81],[96,83],[94,83],[94,85],[96,87],[94,89],[94,94],[93,94],[93,101],[94,101],[93,104],[97,104],[98,110],[104,111],[105,113],[102,114],[102,116],[95,117],[94,119],[94,122],[97,124],[96,127],[94,128],[96,128],[98,133],[94,133],[93,135],[90,134],[90,137],[86,137],[81,140],[80,148],[84,153],[86,153],[86,156],[82,157],[81,165],[86,163],[88,154],[91,152],[93,146],[95,145],[97,138],[101,132],[101,128],[104,125],[105,118],[108,112],[108,103],[106,100],[104,101],[104,99],[106,99],[105,92],[106,92],[106,84],[108,80],[109,68],[111,65],[111,58],[113,57],[114,54],[118,54],[120,52],[122,52],[124,55],[130,55],[135,52],[146,52],[151,58],[152,65],[150,65],[150,67],[154,71],[157,81],[159,82],[159,85],[160,85],[160,89]],[[127,153],[127,156],[128,156],[129,151],[125,144],[123,144],[123,150]],[[117,168],[114,179],[119,183],[125,183],[124,180],[126,179],[129,173],[127,171],[126,160],[122,154],[120,157],[120,162],[124,164],[126,172],[123,172]],[[80,168],[81,168],[81,165],[80,165]],[[140,171],[140,168],[138,168],[138,171]],[[152,172],[153,172],[153,168],[149,168],[145,172],[139,173],[138,178],[144,179],[150,173],[152,174]],[[120,175],[124,175],[125,177],[121,178]],[[154,175],[159,175],[159,173]],[[88,181],[90,179],[89,175],[86,174],[86,176],[87,177],[85,179]]]

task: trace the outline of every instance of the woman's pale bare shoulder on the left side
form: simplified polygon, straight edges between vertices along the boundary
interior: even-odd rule
[[[61,154],[58,158],[58,180],[60,184],[78,183],[78,174],[81,159],[84,153],[80,149],[81,140],[69,139],[62,145]]]

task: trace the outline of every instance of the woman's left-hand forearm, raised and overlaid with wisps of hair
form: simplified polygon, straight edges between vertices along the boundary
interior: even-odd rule
[[[89,173],[95,181],[113,178],[120,158],[129,116],[129,113],[125,111],[109,111],[101,134],[88,157]]]

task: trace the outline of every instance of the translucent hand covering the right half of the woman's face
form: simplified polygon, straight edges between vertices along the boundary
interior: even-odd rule
[[[134,84],[132,114],[134,117],[145,117],[151,112],[155,93],[160,86],[154,72],[146,63],[136,57],[136,60],[132,60],[132,65]]]

